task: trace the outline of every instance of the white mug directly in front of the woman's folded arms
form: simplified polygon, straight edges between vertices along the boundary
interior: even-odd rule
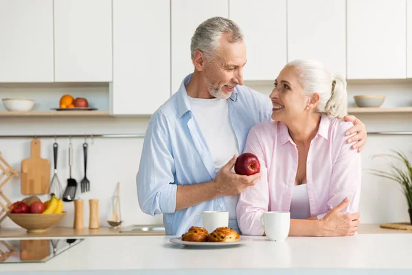
[[[284,241],[289,234],[290,212],[263,212],[260,223],[270,241]]]

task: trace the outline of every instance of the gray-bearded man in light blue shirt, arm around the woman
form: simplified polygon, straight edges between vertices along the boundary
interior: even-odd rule
[[[249,129],[271,120],[270,98],[243,85],[246,47],[238,25],[221,17],[198,26],[191,43],[194,73],[152,115],[137,173],[137,195],[146,214],[163,214],[166,234],[181,235],[196,214],[229,212],[238,230],[238,194],[260,174],[232,172]],[[275,76],[273,76],[275,77]],[[365,125],[356,118],[348,142],[362,150]]]

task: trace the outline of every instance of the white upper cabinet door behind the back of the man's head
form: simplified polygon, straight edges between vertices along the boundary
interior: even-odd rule
[[[172,94],[194,72],[190,40],[197,26],[210,17],[229,17],[228,0],[172,0]]]

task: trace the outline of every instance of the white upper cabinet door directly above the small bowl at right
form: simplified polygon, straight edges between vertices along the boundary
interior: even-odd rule
[[[406,4],[347,0],[347,78],[406,78]]]

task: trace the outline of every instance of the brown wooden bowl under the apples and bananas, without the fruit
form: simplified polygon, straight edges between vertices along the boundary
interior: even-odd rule
[[[65,217],[65,214],[65,211],[59,214],[15,214],[8,212],[8,217],[16,225],[26,229],[27,233],[43,233]]]

